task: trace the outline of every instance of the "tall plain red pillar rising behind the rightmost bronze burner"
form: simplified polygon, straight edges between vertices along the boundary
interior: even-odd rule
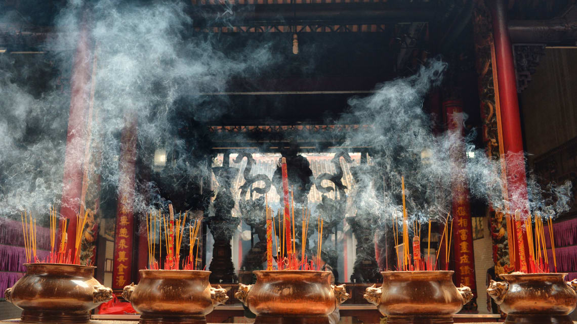
[[[523,137],[519,115],[519,100],[515,80],[515,65],[511,39],[507,29],[507,7],[504,0],[488,1],[493,18],[493,37],[497,63],[497,81],[499,84],[499,99],[501,102],[501,128],[503,129],[503,147],[505,152],[505,168],[507,174],[507,196],[513,216],[519,211],[520,217],[515,217],[515,270],[527,272],[529,247],[527,233],[521,226],[521,218],[526,217],[527,179],[523,156]]]

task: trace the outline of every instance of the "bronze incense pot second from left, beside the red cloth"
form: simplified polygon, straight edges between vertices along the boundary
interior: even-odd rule
[[[140,282],[124,287],[122,297],[140,312],[141,324],[204,324],[215,306],[228,300],[226,289],[212,288],[211,272],[140,270]]]

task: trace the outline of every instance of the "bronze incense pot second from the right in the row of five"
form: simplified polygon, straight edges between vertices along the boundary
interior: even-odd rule
[[[365,299],[387,316],[387,323],[453,322],[453,315],[469,303],[469,287],[456,288],[452,271],[381,272],[383,285],[369,287]]]

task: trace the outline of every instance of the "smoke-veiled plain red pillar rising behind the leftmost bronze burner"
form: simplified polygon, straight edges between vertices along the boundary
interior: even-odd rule
[[[76,243],[76,214],[80,209],[83,161],[86,138],[87,108],[90,96],[92,46],[88,27],[83,25],[78,35],[74,65],[70,81],[70,112],[66,131],[64,175],[62,179],[62,204],[60,214],[68,218],[68,249],[74,253]]]

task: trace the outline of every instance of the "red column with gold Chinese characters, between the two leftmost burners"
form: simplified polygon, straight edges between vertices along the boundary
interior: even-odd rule
[[[118,207],[114,238],[113,289],[122,289],[125,285],[132,282],[136,131],[136,115],[126,115],[121,135],[118,167]]]

